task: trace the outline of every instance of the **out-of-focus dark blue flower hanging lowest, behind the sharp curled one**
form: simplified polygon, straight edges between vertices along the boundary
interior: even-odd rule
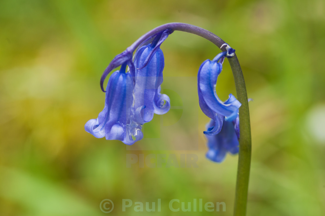
[[[207,128],[213,127],[214,120],[211,119]],[[233,121],[223,120],[221,131],[214,135],[205,135],[208,140],[208,152],[206,157],[214,162],[222,162],[227,153],[237,154],[239,152],[239,117]]]

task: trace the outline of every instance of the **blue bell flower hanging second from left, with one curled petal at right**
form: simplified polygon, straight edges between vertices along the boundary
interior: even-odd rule
[[[160,45],[168,36],[162,32],[154,40],[138,48],[134,56],[135,86],[134,115],[137,122],[144,124],[152,120],[154,113],[165,114],[170,109],[170,99],[160,93],[163,77],[164,56]]]

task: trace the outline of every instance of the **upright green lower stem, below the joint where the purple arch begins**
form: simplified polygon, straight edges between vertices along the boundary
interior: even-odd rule
[[[251,124],[249,119],[246,85],[238,58],[235,55],[234,57],[228,59],[228,61],[235,80],[237,99],[241,103],[241,107],[239,108],[240,144],[234,216],[245,216],[247,209],[247,195],[252,154]]]

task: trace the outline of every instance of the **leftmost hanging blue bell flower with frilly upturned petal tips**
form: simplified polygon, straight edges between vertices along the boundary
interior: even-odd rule
[[[133,102],[133,78],[125,73],[126,63],[120,71],[114,72],[106,87],[105,106],[97,119],[90,119],[85,130],[96,138],[120,140],[125,144],[133,144],[142,139],[141,127],[130,118]]]

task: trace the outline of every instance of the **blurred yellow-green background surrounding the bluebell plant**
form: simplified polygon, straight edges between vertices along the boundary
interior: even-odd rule
[[[205,158],[209,119],[196,92],[200,64],[219,52],[211,42],[174,32],[163,43],[162,88],[175,107],[145,124],[135,147],[84,130],[103,108],[99,78],[113,57],[168,22],[236,49],[254,99],[248,215],[325,215],[323,0],[1,0],[0,215],[107,215],[103,199],[112,215],[183,215],[169,210],[171,199],[226,204],[187,215],[232,215],[238,157]],[[227,61],[217,93],[235,94]],[[194,155],[198,167],[127,167],[129,155],[149,154]],[[161,212],[123,212],[122,199],[161,199]]]

